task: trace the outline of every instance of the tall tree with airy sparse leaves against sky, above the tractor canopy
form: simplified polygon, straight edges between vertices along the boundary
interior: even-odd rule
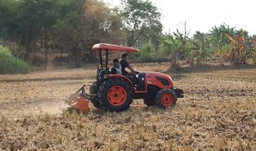
[[[129,47],[132,47],[143,33],[152,34],[151,31],[158,31],[157,33],[162,31],[161,14],[148,0],[122,0],[121,11],[129,31]]]

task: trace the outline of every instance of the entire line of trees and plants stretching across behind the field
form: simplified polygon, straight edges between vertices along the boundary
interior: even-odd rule
[[[197,31],[191,39],[187,31],[163,35],[161,14],[152,2],[122,0],[121,4],[111,9],[100,0],[2,0],[0,44],[8,45],[14,56],[26,61],[34,53],[38,62],[36,53],[45,53],[45,68],[48,53],[56,50],[61,56],[68,54],[64,61],[73,67],[94,61],[96,53],[91,47],[96,43],[141,48],[141,53],[132,55],[137,62],[170,61],[175,67],[177,60],[193,65],[194,59],[199,64],[213,54],[223,62],[230,44],[224,33],[244,37],[243,54],[254,54],[248,45],[256,36],[249,36],[247,31],[224,23],[212,27],[209,33]],[[243,58],[246,60],[246,56]]]

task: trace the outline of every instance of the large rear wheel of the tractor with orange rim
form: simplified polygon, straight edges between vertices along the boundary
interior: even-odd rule
[[[108,79],[100,86],[99,101],[102,109],[110,112],[121,112],[132,103],[132,88],[123,79]]]

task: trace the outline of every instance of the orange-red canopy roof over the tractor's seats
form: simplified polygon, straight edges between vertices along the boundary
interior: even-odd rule
[[[124,47],[124,46],[121,46],[121,45],[104,44],[104,43],[95,44],[92,47],[92,50],[139,52],[139,49],[135,49],[135,48],[132,48],[132,47]]]

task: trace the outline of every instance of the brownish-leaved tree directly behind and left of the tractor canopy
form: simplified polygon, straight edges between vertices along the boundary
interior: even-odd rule
[[[74,67],[80,67],[84,60],[95,59],[91,51],[94,44],[122,43],[122,20],[117,10],[111,10],[105,3],[96,0],[70,1],[61,3],[61,10],[68,11],[63,11],[64,17],[56,25],[53,41],[69,54]]]

